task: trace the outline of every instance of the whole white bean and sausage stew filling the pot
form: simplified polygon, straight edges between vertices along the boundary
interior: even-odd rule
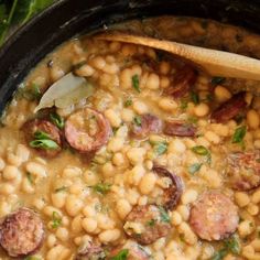
[[[115,25],[260,58],[192,18]],[[260,259],[260,96],[169,53],[95,35],[48,54],[0,128],[0,259]]]

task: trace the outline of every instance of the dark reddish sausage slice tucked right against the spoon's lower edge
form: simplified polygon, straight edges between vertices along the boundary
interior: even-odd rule
[[[176,73],[176,77],[173,80],[173,85],[164,90],[165,95],[173,98],[182,98],[187,95],[197,79],[196,71],[185,65],[180,72]]]

